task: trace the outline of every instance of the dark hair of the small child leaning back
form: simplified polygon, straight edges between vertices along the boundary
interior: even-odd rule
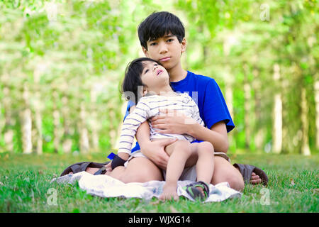
[[[121,93],[125,95],[126,100],[134,101],[135,104],[138,103],[138,98],[142,95],[138,94],[138,86],[145,86],[145,84],[142,83],[142,79],[140,79],[140,75],[145,67],[142,62],[145,61],[157,62],[152,60],[152,58],[140,57],[130,62],[125,69]],[[157,64],[162,65],[159,62],[157,62]]]

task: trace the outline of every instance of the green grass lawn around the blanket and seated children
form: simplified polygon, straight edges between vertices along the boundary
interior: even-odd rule
[[[0,154],[0,212],[313,212],[318,213],[319,155],[230,155],[232,163],[257,165],[267,171],[269,185],[247,185],[241,198],[201,204],[188,199],[100,198],[76,185],[52,183],[67,165],[84,160],[103,162],[105,155]],[[57,205],[50,205],[52,191]],[[266,192],[266,194],[264,194]],[[269,200],[265,200],[269,195]],[[51,203],[52,204],[52,203]]]

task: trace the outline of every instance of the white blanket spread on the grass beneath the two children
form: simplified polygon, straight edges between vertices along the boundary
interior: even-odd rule
[[[59,184],[67,183],[74,184],[79,182],[79,187],[86,191],[86,193],[101,196],[101,197],[125,197],[125,198],[140,198],[152,199],[152,197],[159,197],[162,194],[162,189],[165,184],[164,181],[150,181],[145,183],[128,183],[125,184],[118,179],[107,175],[91,175],[88,172],[78,172],[74,175],[65,175],[52,179],[52,182]],[[183,189],[184,186],[190,184],[191,181],[179,181],[177,184],[177,194],[185,196],[186,198],[194,201],[194,199],[186,193]],[[228,182],[220,184],[209,185],[209,196],[203,202],[223,201],[234,197],[240,197],[240,192],[231,189]]]

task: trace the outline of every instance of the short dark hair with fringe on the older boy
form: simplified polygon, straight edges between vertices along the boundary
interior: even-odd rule
[[[154,12],[138,26],[140,45],[147,50],[148,40],[156,40],[169,32],[177,36],[179,43],[185,37],[185,28],[177,16],[166,11]]]

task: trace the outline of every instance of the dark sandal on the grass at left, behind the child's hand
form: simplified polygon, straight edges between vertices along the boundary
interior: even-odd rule
[[[65,170],[63,170],[62,174],[60,177],[64,175],[68,175],[69,172],[77,173],[77,172],[82,172],[85,171],[87,167],[92,167],[92,168],[100,168],[100,170],[96,171],[94,175],[103,175],[106,170],[105,170],[105,165],[108,164],[108,162],[77,162],[73,165],[70,165],[67,167]]]

